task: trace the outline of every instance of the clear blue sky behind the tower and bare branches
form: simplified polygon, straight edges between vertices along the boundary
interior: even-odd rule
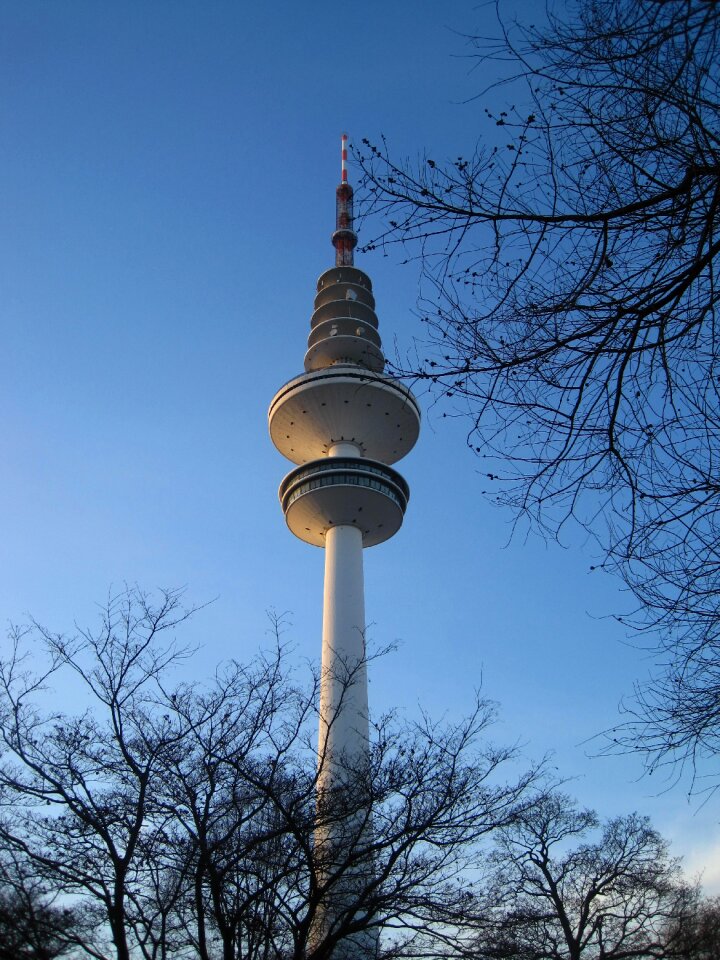
[[[0,0],[5,622],[70,630],[113,585],[186,585],[214,600],[187,627],[199,672],[252,656],[268,609],[317,658],[323,555],[285,528],[266,415],[333,262],[340,134],[467,153],[493,77],[466,35],[493,29],[466,0]],[[400,259],[357,260],[388,353],[420,332]],[[610,616],[628,598],[580,537],[511,540],[464,423],[420,400],[405,525],[365,554],[371,636],[397,643],[373,709],[455,715],[482,684],[497,739],[552,754],[601,816],[649,814],[720,892],[717,797],[588,742],[652,665]]]

